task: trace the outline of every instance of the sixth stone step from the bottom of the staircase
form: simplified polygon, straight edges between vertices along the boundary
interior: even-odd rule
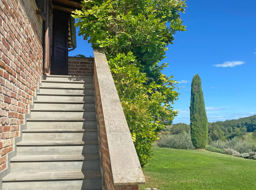
[[[95,109],[31,109],[31,118],[65,118],[65,119],[94,119]]]

